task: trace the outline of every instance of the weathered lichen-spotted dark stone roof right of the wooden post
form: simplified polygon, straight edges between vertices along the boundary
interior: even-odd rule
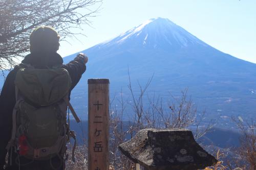
[[[143,129],[119,149],[135,163],[151,170],[203,169],[217,163],[186,129]]]

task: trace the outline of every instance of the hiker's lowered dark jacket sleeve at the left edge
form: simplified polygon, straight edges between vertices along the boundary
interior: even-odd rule
[[[5,163],[5,157],[7,153],[7,150],[5,148],[11,137],[12,110],[14,108],[16,100],[14,85],[16,72],[16,69],[9,72],[0,95],[0,169]]]

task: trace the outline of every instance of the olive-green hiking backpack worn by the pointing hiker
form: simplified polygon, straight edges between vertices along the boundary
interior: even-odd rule
[[[12,137],[7,149],[14,147],[18,156],[31,160],[51,160],[55,156],[62,159],[69,138],[75,138],[67,124],[68,106],[79,122],[68,99],[69,72],[61,67],[37,69],[24,64],[18,68]]]

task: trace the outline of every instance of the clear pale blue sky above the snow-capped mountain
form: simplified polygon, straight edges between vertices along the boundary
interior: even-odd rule
[[[218,50],[256,63],[256,0],[103,0],[87,37],[60,43],[64,57],[113,38],[150,18],[168,18]],[[89,60],[90,57],[89,56]]]

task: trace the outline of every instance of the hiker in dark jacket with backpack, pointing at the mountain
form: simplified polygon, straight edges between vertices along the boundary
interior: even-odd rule
[[[29,38],[30,54],[9,72],[0,95],[0,170],[65,169],[67,106],[88,58],[79,54],[63,64],[59,35],[50,27]]]

